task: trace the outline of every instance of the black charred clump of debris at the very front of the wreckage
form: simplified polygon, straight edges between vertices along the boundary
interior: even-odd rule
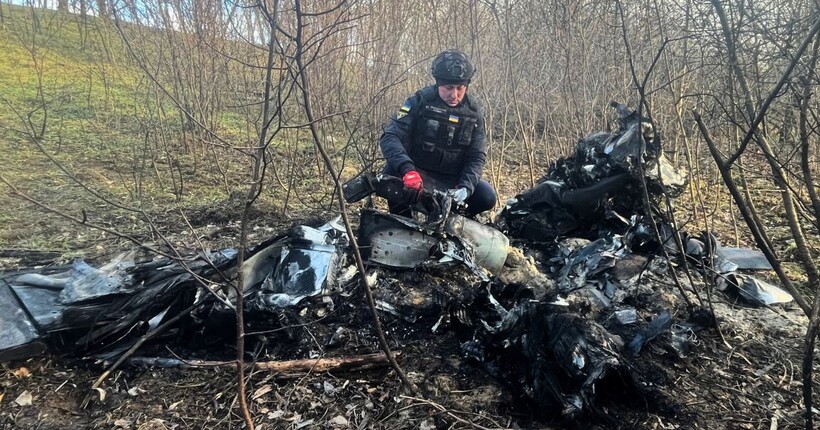
[[[496,304],[496,308],[500,305]],[[595,409],[596,385],[621,371],[618,341],[601,325],[544,302],[499,309],[462,352],[513,385],[538,410],[575,417]],[[553,406],[553,407],[551,407]]]

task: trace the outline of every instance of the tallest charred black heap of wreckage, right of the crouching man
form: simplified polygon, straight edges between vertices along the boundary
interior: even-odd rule
[[[608,220],[644,212],[638,181],[643,172],[650,198],[679,194],[685,175],[663,156],[654,124],[613,104],[618,127],[578,142],[572,156],[558,159],[532,189],[510,200],[499,213],[502,231],[515,238],[550,242],[569,234],[594,236]]]

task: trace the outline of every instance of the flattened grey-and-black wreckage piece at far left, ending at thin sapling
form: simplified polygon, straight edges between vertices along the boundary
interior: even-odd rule
[[[116,353],[161,323],[170,308],[193,303],[195,278],[225,269],[234,255],[233,250],[195,255],[183,266],[168,259],[137,264],[133,253],[125,253],[99,269],[77,260],[57,273],[11,274],[3,286],[34,325],[36,342],[62,353]],[[0,314],[0,325],[10,318]],[[0,346],[0,354],[4,350],[15,348]]]

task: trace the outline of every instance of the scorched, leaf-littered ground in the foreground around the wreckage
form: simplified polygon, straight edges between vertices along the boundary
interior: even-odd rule
[[[235,231],[235,226],[213,224],[199,228],[201,236],[224,241]],[[20,255],[4,259],[3,266],[48,260],[47,255],[31,260]],[[401,367],[420,392],[413,395],[403,388],[389,367],[297,375],[251,371],[247,389],[256,428],[803,428],[801,362],[807,319],[793,304],[759,308],[721,293],[711,295],[719,330],[692,333],[685,357],[660,338],[649,343],[638,356],[625,359],[630,373],[625,377],[634,378],[638,390],[624,390],[623,381],[605,381],[596,393],[597,410],[566,420],[527,400],[519,381],[494,378],[482,364],[465,359],[461,344],[469,327],[451,321],[437,333],[431,331],[442,314],[433,303],[434,290],[467,303],[481,288],[481,281],[461,268],[379,269],[377,296],[412,305],[398,312],[402,316],[382,312],[381,318],[391,348],[400,352]],[[694,288],[706,298],[702,285],[696,282]],[[675,321],[687,316],[686,303],[669,278],[652,277],[629,294],[644,322],[661,308],[671,309]],[[408,321],[410,314],[414,322]],[[137,355],[230,360],[235,352],[232,324],[228,316],[215,317],[209,331],[199,336],[182,327]],[[248,361],[379,351],[363,291],[355,285],[278,316],[252,318],[248,331]],[[104,369],[105,363],[59,356],[2,364],[0,427],[244,427],[236,372],[230,366],[126,366],[111,374],[101,390],[89,391]],[[28,396],[31,404],[21,406]],[[90,402],[84,408],[86,399]]]

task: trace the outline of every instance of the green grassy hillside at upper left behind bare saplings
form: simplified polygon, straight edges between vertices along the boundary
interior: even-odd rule
[[[143,211],[161,227],[174,208],[196,216],[225,204],[242,180],[241,154],[196,146],[199,134],[180,127],[184,118],[129,60],[110,21],[41,9],[33,20],[29,8],[2,7],[5,181],[54,211],[140,235],[150,230]],[[234,138],[235,115],[223,119],[222,138]],[[228,158],[215,166],[208,154]],[[0,207],[2,248],[81,252],[105,237],[11,193]]]

